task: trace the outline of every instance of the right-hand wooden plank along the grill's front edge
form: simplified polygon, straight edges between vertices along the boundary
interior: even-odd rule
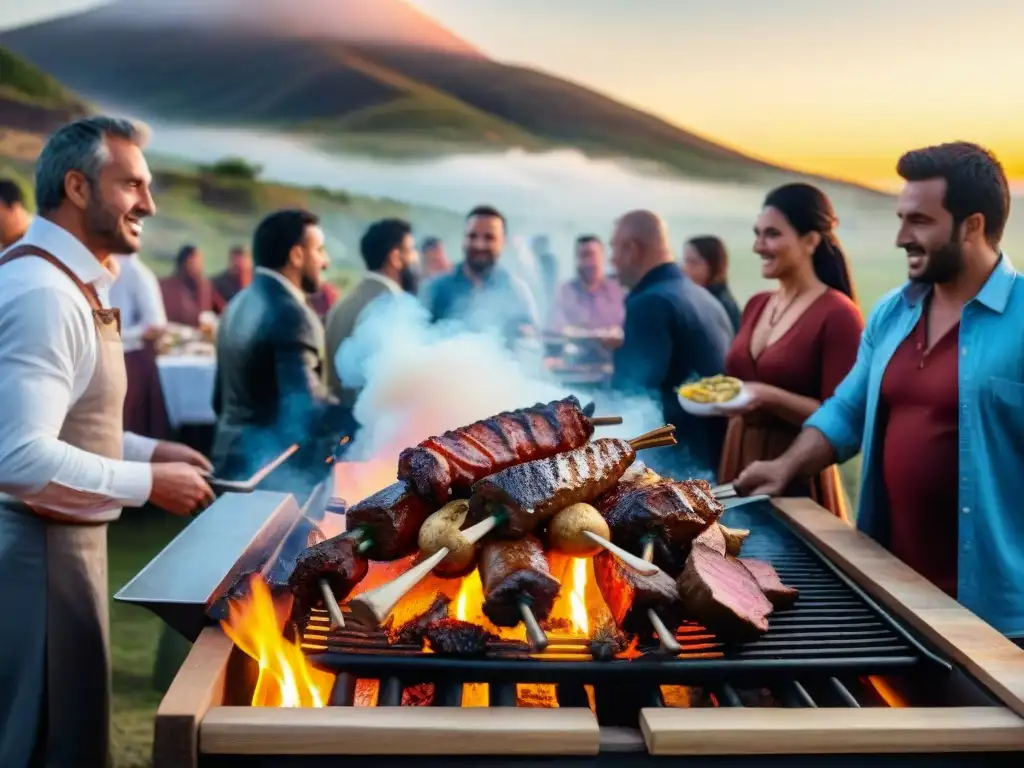
[[[860,710],[645,709],[651,755],[1014,752],[1024,720],[1005,707]]]

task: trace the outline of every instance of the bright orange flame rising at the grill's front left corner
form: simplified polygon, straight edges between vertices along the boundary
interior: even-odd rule
[[[231,601],[220,626],[231,641],[258,665],[253,707],[324,707],[334,675],[310,667],[298,642],[282,632],[291,600],[274,604],[270,590],[256,574],[249,580],[249,598]]]

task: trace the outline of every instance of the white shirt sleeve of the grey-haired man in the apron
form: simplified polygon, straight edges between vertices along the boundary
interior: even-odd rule
[[[59,439],[73,404],[75,372],[94,333],[74,299],[59,291],[31,290],[4,304],[0,490],[76,515],[138,507],[148,499],[153,486],[148,464],[106,459]],[[144,451],[136,444],[131,453]]]

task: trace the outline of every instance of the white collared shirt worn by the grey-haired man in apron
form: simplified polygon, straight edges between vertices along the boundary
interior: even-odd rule
[[[37,216],[18,245],[52,253],[108,303],[113,275],[68,230]],[[118,461],[58,437],[92,379],[96,345],[92,308],[67,274],[32,257],[0,267],[0,496],[81,517],[150,498],[156,440],[126,432]]]

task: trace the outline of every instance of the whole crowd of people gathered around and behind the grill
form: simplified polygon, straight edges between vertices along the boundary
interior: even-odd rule
[[[327,446],[360,427],[358,383],[337,360],[388,301],[510,347],[618,329],[602,336],[608,386],[658,403],[687,461],[743,495],[809,496],[848,519],[837,463],[859,452],[857,526],[1024,641],[1024,279],[999,247],[1007,178],[982,147],[899,160],[908,280],[865,324],[838,216],[806,183],[752,212],[772,285],[741,310],[721,241],[693,238],[677,260],[645,210],[614,222],[610,273],[602,239],[582,234],[562,285],[545,239],[528,268],[506,263],[510,223],[487,206],[466,216],[454,265],[436,238],[418,248],[409,222],[373,223],[365,276],[340,300],[324,291],[319,219],[302,210],[266,216],[251,256],[233,249],[221,274],[207,279],[186,246],[158,281],[135,255],[156,213],[144,142],[138,125],[102,117],[57,131],[37,163],[34,218],[0,182],[0,611],[18,616],[0,631],[0,764],[104,763],[106,525],[147,502],[194,514],[213,498],[211,470],[248,477],[293,441],[297,471],[318,479]],[[205,313],[220,314],[210,459],[123,421],[133,355],[168,322]],[[722,373],[744,382],[742,410],[684,413],[678,387]]]

